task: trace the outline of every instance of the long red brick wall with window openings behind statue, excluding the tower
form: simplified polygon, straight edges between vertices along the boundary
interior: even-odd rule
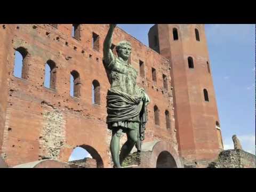
[[[5,62],[0,69],[1,118],[5,118],[2,156],[9,166],[37,161],[43,158],[57,158],[67,162],[77,146],[91,146],[103,160],[104,167],[111,166],[109,143],[111,133],[106,125],[106,94],[110,87],[102,63],[103,40],[108,25],[81,25],[81,38],[71,36],[71,24],[51,25],[6,25],[7,41],[1,51],[7,50]],[[92,47],[92,33],[99,35],[99,50]],[[139,72],[139,60],[145,63],[145,77],[138,75],[137,82],[146,89],[151,103],[148,106],[146,140],[162,139],[170,142],[177,150],[175,121],[169,61],[134,37],[116,28],[113,44],[126,39],[132,44],[131,64]],[[24,47],[28,56],[27,76],[21,79],[13,76],[14,49]],[[3,54],[1,54],[3,55]],[[6,60],[7,59],[7,60]],[[56,63],[55,90],[44,87],[45,63]],[[151,67],[157,71],[157,82],[152,81]],[[70,72],[79,73],[80,97],[70,97]],[[139,73],[140,74],[140,73]],[[168,90],[163,89],[163,74],[167,76]],[[100,105],[92,103],[92,82],[100,83]],[[2,97],[2,95],[1,95]],[[159,125],[154,123],[154,105],[159,109]],[[166,129],[165,110],[169,111],[171,129]],[[1,131],[0,129],[0,131]],[[122,138],[124,143],[126,136]],[[91,154],[94,156],[94,154]]]

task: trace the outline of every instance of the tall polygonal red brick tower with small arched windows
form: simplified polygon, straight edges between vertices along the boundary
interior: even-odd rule
[[[204,25],[154,25],[148,36],[170,61],[181,157],[203,167],[223,149]]]

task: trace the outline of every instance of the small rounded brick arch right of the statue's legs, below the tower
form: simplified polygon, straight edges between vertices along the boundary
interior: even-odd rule
[[[153,148],[150,157],[150,165],[152,167],[169,167],[169,168],[182,168],[182,163],[178,153],[174,150],[169,142],[159,140]],[[165,165],[165,166],[164,166]]]

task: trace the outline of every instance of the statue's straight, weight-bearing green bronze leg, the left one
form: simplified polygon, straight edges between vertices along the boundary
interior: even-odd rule
[[[119,144],[120,144],[120,138],[122,136],[122,133],[123,133],[122,129],[113,129],[112,130],[110,151],[111,151],[112,160],[114,162],[114,166],[116,168],[122,167],[119,162]]]

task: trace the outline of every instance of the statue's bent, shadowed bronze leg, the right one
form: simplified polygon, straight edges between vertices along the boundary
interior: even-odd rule
[[[122,165],[124,159],[130,154],[135,142],[138,140],[138,130],[130,130],[127,133],[127,141],[121,148],[121,153],[119,156],[120,164]]]

